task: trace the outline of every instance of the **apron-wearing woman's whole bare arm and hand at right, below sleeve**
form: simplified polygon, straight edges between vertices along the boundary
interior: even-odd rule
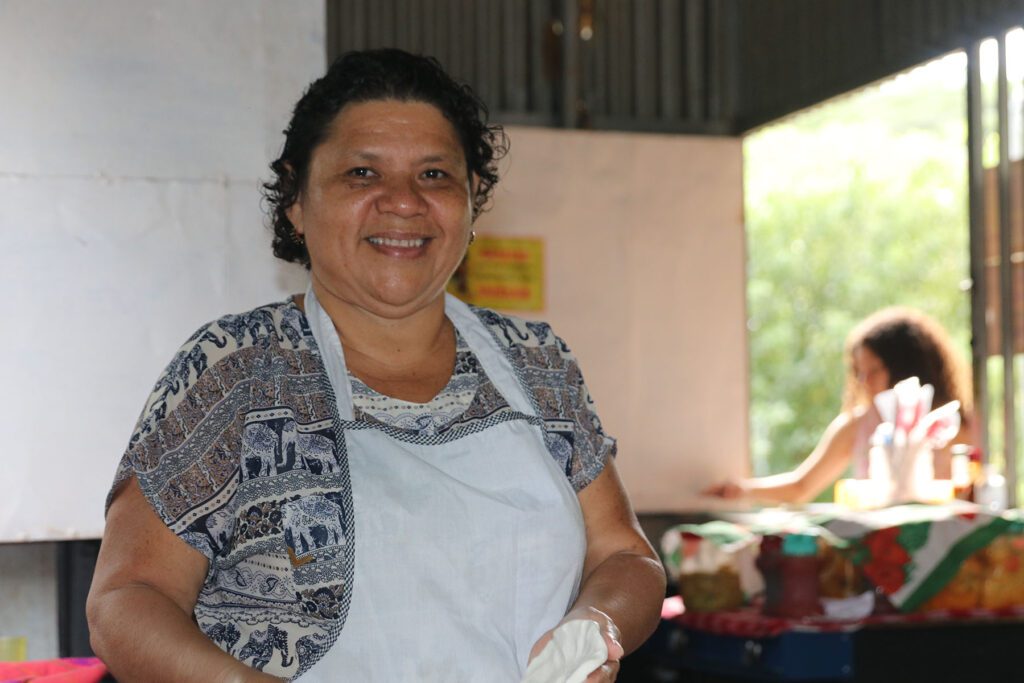
[[[587,525],[587,558],[580,595],[560,624],[587,618],[600,625],[609,660],[587,681],[610,681],[622,655],[639,647],[657,627],[665,569],[640,530],[611,458],[579,498]],[[530,659],[552,631],[537,642]]]

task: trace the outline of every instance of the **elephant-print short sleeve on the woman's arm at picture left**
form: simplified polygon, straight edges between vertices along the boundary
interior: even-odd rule
[[[225,512],[238,482],[240,416],[249,400],[229,335],[210,324],[161,373],[106,498],[135,477],[167,526],[211,561],[230,538]]]

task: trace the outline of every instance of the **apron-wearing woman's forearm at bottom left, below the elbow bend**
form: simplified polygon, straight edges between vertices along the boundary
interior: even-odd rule
[[[90,596],[93,650],[121,683],[280,681],[217,647],[170,598],[145,585]]]

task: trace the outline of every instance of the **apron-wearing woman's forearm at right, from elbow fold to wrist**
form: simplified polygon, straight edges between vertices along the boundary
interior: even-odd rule
[[[607,614],[632,652],[654,632],[665,599],[665,569],[646,554],[622,551],[608,556],[587,577],[573,609],[593,607]]]

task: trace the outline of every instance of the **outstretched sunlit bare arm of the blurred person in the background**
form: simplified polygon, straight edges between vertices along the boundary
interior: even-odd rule
[[[818,444],[792,472],[726,481],[706,488],[706,496],[752,498],[774,503],[806,503],[839,479],[853,459],[858,420],[843,413],[831,421]]]

